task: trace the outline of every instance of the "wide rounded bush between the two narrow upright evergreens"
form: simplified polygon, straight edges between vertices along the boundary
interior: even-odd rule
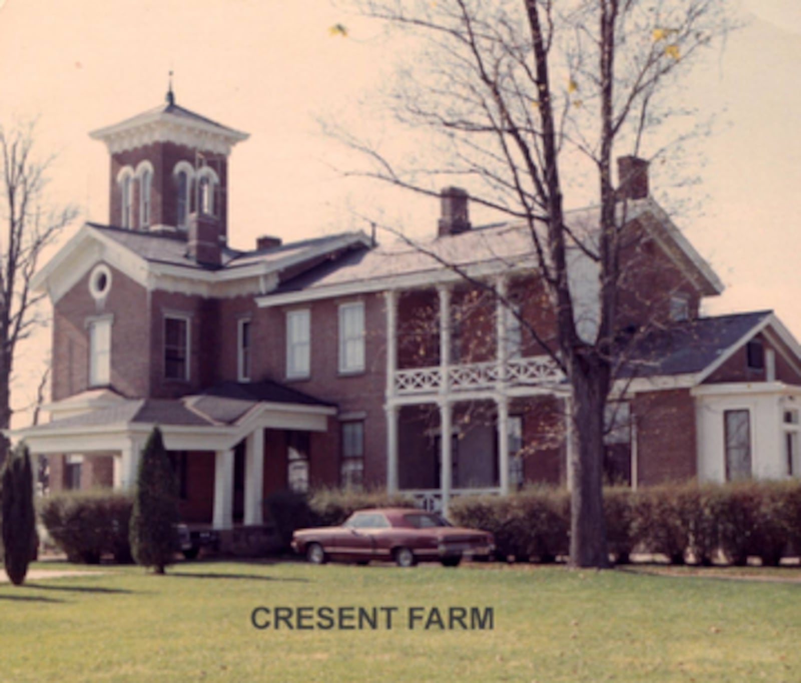
[[[111,554],[131,561],[128,524],[131,495],[113,491],[67,491],[42,499],[39,516],[70,562],[97,564]]]

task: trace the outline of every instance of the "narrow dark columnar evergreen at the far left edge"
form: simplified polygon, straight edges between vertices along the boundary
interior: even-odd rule
[[[9,454],[2,467],[0,499],[0,555],[9,580],[18,586],[25,580],[38,546],[34,477],[24,443]]]

